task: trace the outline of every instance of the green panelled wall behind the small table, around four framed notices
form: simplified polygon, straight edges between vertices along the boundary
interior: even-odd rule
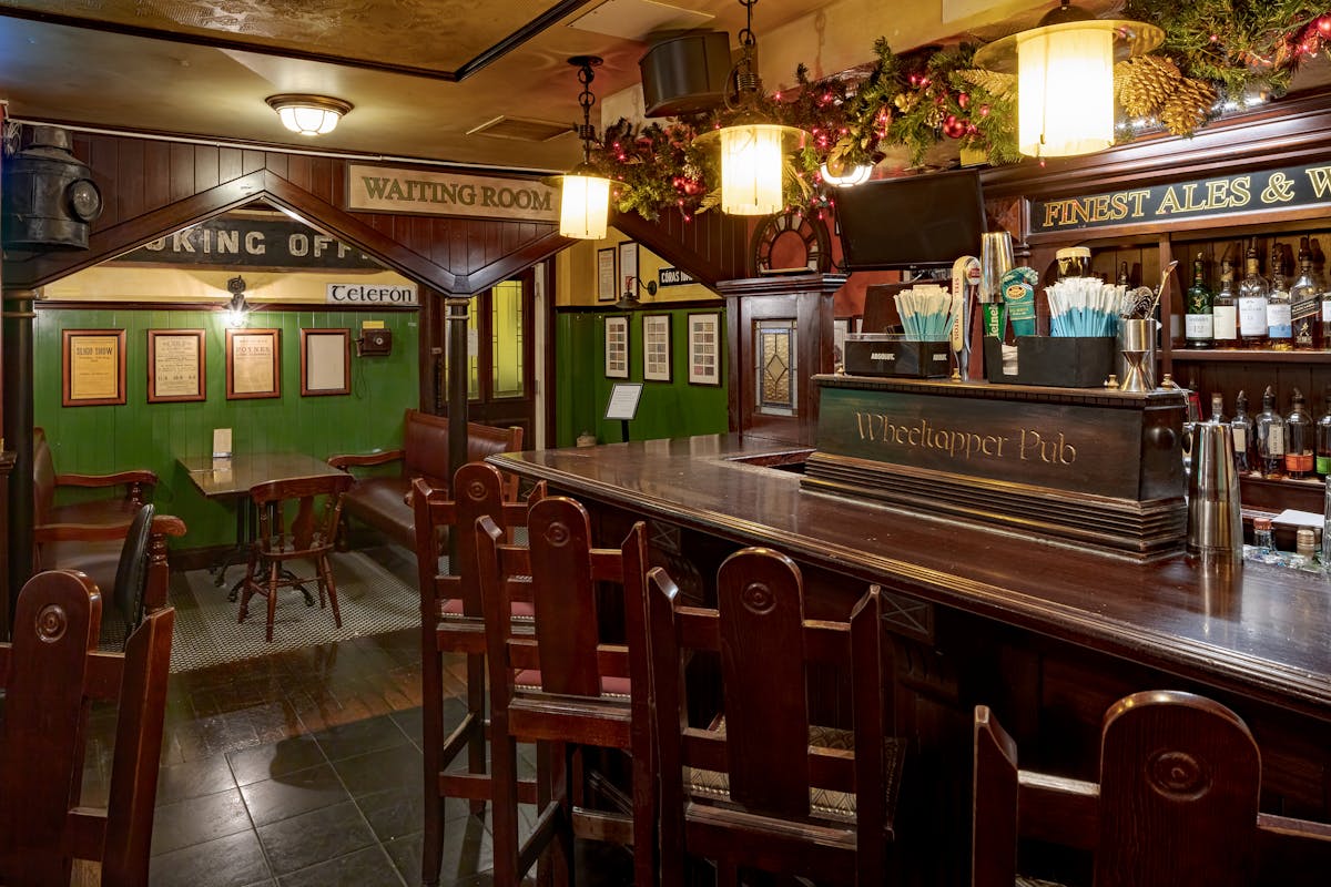
[[[236,539],[234,503],[204,499],[178,457],[212,453],[213,430],[230,428],[234,452],[334,453],[391,449],[402,443],[402,411],[419,404],[418,326],[414,311],[254,311],[250,328],[281,330],[282,396],[226,399],[226,342],[217,311],[45,309],[33,323],[33,422],[47,430],[56,471],[106,473],[152,468],[161,483],[154,501],[189,528],[177,548],[222,545]],[[393,354],[355,356],[366,320],[393,331]],[[351,394],[301,396],[301,330],[351,331]],[[124,406],[61,407],[63,330],[125,330]],[[205,331],[208,399],[148,403],[148,330]],[[63,493],[67,495],[67,493]],[[68,495],[77,495],[69,492]]]

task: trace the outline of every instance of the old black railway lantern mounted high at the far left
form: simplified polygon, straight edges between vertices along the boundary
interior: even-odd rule
[[[5,249],[88,249],[88,223],[101,215],[101,191],[92,170],[75,157],[69,132],[24,125],[15,142],[23,148],[5,152],[0,202]]]

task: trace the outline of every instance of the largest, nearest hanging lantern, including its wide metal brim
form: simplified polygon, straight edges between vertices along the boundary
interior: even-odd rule
[[[1038,27],[981,47],[976,66],[1016,72],[1022,154],[1089,154],[1114,144],[1114,63],[1163,40],[1153,24],[1095,19],[1063,0]]]

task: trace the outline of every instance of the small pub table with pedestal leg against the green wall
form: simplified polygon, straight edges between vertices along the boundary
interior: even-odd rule
[[[253,513],[254,504],[249,499],[250,487],[272,480],[342,473],[341,469],[329,465],[322,459],[302,452],[236,453],[228,459],[182,456],[177,461],[189,473],[189,479],[198,488],[198,492],[208,499],[237,500],[236,545],[210,568],[216,574],[214,581],[218,588],[226,584],[228,567],[236,563],[245,564],[249,559],[250,543],[254,541],[254,532],[258,528],[258,519]],[[245,501],[240,501],[241,499]],[[236,600],[238,590],[240,582],[232,588],[228,598]],[[306,604],[313,602],[313,600],[311,594],[305,592]]]

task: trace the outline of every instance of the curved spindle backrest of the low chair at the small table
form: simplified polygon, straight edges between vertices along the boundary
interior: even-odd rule
[[[250,487],[258,511],[260,551],[268,553],[314,552],[333,545],[342,517],[342,493],[354,483],[351,475],[317,475],[270,480]],[[295,501],[287,523],[285,503]]]

